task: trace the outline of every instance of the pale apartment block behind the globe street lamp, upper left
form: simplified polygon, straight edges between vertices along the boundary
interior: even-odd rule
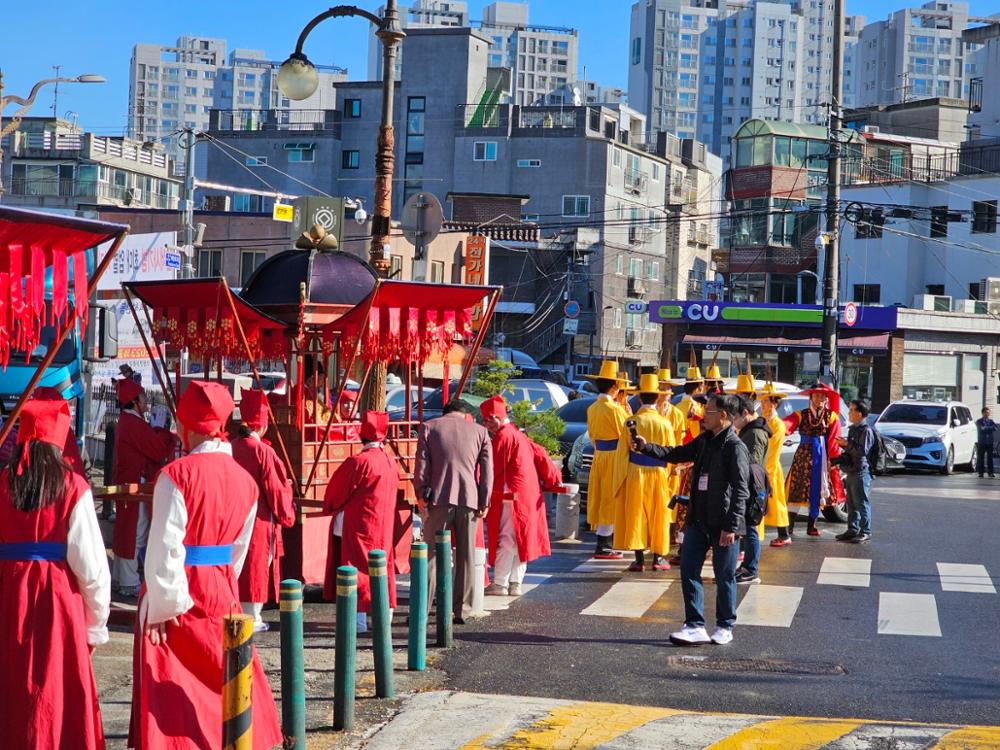
[[[345,69],[318,65],[316,93],[295,102],[278,90],[280,66],[261,50],[234,49],[227,55],[224,39],[182,36],[173,46],[137,44],[129,66],[128,133],[164,143],[183,168],[176,131],[206,130],[213,109],[333,108],[333,84],[346,78]]]

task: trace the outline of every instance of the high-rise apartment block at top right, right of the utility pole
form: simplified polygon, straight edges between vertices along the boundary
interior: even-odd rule
[[[855,53],[854,105],[967,98],[981,71],[976,44],[963,42],[962,32],[984,23],[990,19],[970,16],[968,3],[931,0],[868,24]]]

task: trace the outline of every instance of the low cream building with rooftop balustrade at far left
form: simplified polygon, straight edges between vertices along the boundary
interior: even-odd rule
[[[159,144],[98,136],[26,117],[4,138],[4,203],[76,210],[84,204],[176,209],[180,182]]]

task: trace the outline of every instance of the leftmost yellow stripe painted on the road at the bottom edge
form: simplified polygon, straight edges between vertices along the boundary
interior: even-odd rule
[[[491,743],[484,736],[460,750],[594,750],[650,721],[683,713],[687,712],[612,703],[573,703],[556,706],[548,716],[519,729],[503,742]]]

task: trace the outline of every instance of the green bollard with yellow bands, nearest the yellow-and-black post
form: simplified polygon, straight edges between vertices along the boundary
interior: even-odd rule
[[[281,733],[285,748],[306,746],[306,684],[302,650],[302,583],[281,582]]]

